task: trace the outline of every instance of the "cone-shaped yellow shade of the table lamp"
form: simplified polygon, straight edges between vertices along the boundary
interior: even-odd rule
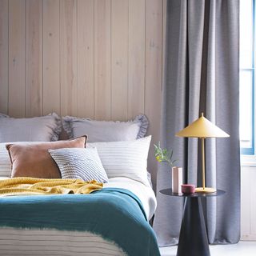
[[[230,137],[229,134],[210,122],[201,114],[201,117],[192,122],[189,126],[186,126],[183,130],[180,130],[177,134],[178,137],[190,137],[190,138],[222,138]]]

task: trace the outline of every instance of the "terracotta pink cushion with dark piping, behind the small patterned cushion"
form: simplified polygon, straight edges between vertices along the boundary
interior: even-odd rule
[[[48,150],[61,148],[84,148],[86,136],[58,142],[7,144],[13,177],[62,178],[57,164]]]

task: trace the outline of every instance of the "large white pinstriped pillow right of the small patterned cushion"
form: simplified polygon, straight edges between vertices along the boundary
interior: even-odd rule
[[[151,136],[126,142],[94,142],[86,147],[97,147],[98,155],[108,178],[126,177],[148,184],[147,156]]]

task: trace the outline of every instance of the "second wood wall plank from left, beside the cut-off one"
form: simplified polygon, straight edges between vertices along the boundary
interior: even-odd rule
[[[25,1],[9,1],[8,114],[25,116]]]

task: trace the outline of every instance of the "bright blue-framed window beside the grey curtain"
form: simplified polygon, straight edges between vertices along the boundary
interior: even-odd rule
[[[255,0],[240,1],[240,146],[254,154]]]

